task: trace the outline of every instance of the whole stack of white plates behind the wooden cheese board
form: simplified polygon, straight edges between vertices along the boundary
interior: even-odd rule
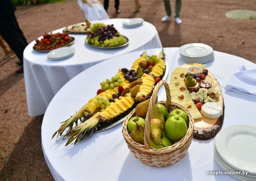
[[[202,43],[191,43],[179,48],[180,56],[186,62],[204,63],[214,58],[211,46]]]

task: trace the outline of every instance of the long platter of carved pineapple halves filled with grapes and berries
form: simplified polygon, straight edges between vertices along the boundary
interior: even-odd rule
[[[73,116],[61,122],[62,125],[52,139],[56,135],[65,134],[64,137],[68,137],[66,145],[74,140],[76,144],[94,131],[127,116],[138,103],[151,96],[158,81],[167,77],[168,65],[164,56],[163,50],[159,55],[148,55],[145,51],[136,60],[132,60],[131,67],[119,67],[112,78],[102,74],[102,82],[98,82],[99,89],[95,90],[95,96],[85,102]]]

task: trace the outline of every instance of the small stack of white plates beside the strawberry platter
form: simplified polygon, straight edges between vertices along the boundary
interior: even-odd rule
[[[47,58],[50,60],[59,60],[63,58],[67,58],[75,53],[75,49],[73,47],[60,47],[58,49],[54,49],[47,54]]]

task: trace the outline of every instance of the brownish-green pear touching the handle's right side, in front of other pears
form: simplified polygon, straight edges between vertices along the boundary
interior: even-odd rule
[[[150,138],[156,145],[161,144],[161,135],[164,131],[164,125],[160,119],[151,119],[150,121]]]

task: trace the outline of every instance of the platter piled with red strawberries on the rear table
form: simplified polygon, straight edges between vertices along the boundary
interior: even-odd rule
[[[36,39],[33,49],[39,52],[49,52],[59,47],[69,46],[74,43],[74,37],[69,33],[44,33],[41,40]]]

